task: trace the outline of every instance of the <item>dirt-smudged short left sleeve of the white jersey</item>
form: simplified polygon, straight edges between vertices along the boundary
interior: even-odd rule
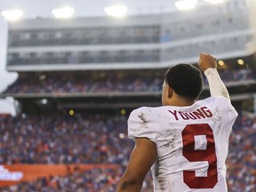
[[[132,111],[128,119],[128,137],[132,140],[136,138],[148,138],[156,143],[156,132],[150,126],[150,115],[145,108],[137,108]]]

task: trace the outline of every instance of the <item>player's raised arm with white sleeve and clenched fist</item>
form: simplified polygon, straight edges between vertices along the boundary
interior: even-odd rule
[[[216,59],[210,54],[201,52],[199,55],[198,67],[207,77],[211,95],[223,96],[230,100],[228,90],[220,79],[219,73],[217,71]]]

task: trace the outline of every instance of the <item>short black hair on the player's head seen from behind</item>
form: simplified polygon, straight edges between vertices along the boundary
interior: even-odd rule
[[[180,96],[196,99],[203,89],[201,71],[190,64],[178,64],[169,68],[165,82]]]

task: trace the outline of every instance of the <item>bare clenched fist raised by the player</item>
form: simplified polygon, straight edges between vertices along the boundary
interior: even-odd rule
[[[217,61],[211,54],[200,52],[198,67],[204,72],[207,68],[217,68]]]

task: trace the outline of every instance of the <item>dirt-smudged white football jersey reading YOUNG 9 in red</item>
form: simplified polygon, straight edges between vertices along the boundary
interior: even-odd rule
[[[236,116],[236,109],[221,96],[188,107],[133,110],[129,137],[156,143],[157,159],[151,167],[154,190],[228,191],[225,161]]]

